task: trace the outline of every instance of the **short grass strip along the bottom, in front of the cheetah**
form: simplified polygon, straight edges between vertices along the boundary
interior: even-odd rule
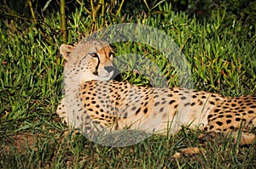
[[[15,147],[19,136],[25,140],[24,148]],[[12,144],[9,143],[12,137],[9,137],[9,141],[2,144],[1,165],[4,168],[253,168],[256,161],[255,144],[238,149],[228,138],[207,144],[206,152],[201,155],[172,159],[177,149],[198,144],[197,133],[188,131],[171,138],[153,136],[123,148],[91,143],[74,133],[41,133],[41,136],[30,135],[27,140],[25,136],[29,135],[16,135]]]

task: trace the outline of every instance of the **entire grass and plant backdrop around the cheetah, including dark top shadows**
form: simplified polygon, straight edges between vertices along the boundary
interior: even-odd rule
[[[173,160],[178,149],[200,143],[200,131],[184,127],[172,137],[113,148],[67,132],[55,115],[64,62],[58,47],[119,23],[154,26],[172,37],[189,61],[196,89],[255,95],[255,1],[3,0],[0,16],[0,168],[256,167],[256,144],[240,147],[231,138],[209,138],[205,153]],[[172,63],[154,48],[134,42],[113,46],[117,55],[152,59],[168,85],[179,84]],[[134,60],[120,60],[138,69]],[[122,78],[148,84],[136,71]]]

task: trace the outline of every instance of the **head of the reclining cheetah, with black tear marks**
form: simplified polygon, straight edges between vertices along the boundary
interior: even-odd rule
[[[107,42],[87,39],[74,46],[62,44],[60,53],[67,60],[64,76],[69,81],[108,81],[113,77],[113,49]]]

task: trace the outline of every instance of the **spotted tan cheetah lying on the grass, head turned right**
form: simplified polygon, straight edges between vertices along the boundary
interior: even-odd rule
[[[224,97],[184,87],[142,87],[113,79],[113,49],[94,38],[62,44],[65,97],[56,110],[69,127],[90,135],[132,130],[175,134],[181,127],[236,135],[252,144],[256,96]]]

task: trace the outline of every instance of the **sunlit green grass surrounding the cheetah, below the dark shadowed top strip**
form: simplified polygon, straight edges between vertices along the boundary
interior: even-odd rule
[[[69,43],[89,32],[90,20],[86,14],[79,16],[74,13],[67,20]],[[0,168],[255,167],[256,144],[240,147],[221,137],[210,139],[201,155],[172,160],[178,149],[199,144],[199,132],[185,128],[170,138],[153,136],[124,148],[104,147],[66,132],[67,127],[55,115],[63,70],[58,53],[59,18],[54,14],[38,26],[0,20]],[[243,29],[240,20],[225,18],[215,12],[210,20],[199,23],[185,14],[169,12],[148,18],[127,16],[122,21],[151,25],[172,37],[189,61],[196,89],[229,96],[255,95],[255,26]],[[114,46],[117,55],[124,51],[143,54],[160,67],[165,65],[161,70],[168,85],[179,84],[172,65],[154,48],[132,42]],[[134,65],[131,61],[130,66]],[[148,84],[147,78],[134,72],[125,72],[123,78]]]

